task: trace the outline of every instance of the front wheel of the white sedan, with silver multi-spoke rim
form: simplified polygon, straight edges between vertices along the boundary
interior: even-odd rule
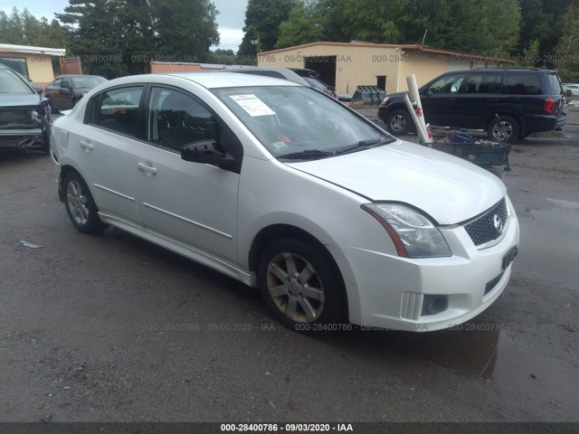
[[[302,333],[324,331],[343,318],[344,284],[327,252],[299,240],[272,241],[258,268],[261,297],[271,314]]]

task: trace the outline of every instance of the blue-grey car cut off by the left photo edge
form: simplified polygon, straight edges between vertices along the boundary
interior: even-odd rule
[[[48,101],[21,74],[0,64],[0,148],[48,150]]]

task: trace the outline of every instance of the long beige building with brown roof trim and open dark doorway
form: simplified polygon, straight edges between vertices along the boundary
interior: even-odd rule
[[[416,74],[418,85],[446,71],[500,67],[508,59],[451,52],[422,45],[369,42],[313,42],[261,52],[258,66],[307,68],[336,93],[352,94],[356,86],[378,86],[387,93],[407,90],[406,77]]]

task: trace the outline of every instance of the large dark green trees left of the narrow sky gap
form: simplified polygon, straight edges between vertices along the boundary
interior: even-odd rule
[[[83,71],[115,78],[148,72],[150,61],[206,61],[219,43],[210,0],[69,0],[57,17]]]

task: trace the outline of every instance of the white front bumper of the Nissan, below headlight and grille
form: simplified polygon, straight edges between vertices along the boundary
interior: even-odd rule
[[[468,321],[489,307],[510,277],[511,265],[505,263],[505,258],[518,244],[517,216],[512,212],[504,238],[484,250],[474,246],[462,227],[441,231],[451,247],[452,256],[448,258],[407,259],[348,246],[327,246],[343,271],[350,322],[433,331]],[[446,296],[448,307],[438,314],[423,315],[427,295]]]

